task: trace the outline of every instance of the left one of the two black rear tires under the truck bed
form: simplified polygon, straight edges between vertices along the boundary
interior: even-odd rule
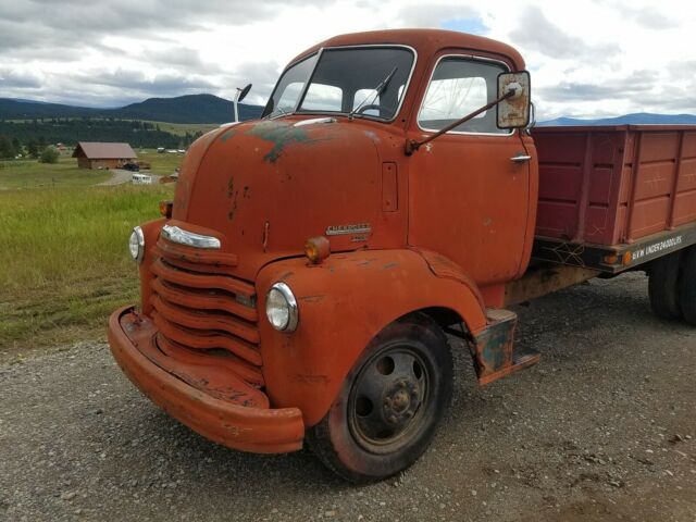
[[[650,263],[648,294],[652,312],[662,319],[681,319],[680,263],[682,252],[670,253]]]

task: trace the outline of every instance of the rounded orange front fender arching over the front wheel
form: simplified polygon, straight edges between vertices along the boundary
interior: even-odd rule
[[[458,313],[474,335],[486,326],[476,290],[436,276],[412,250],[333,254],[319,265],[306,258],[277,261],[257,278],[260,310],[278,281],[297,298],[299,324],[294,333],[277,332],[261,313],[266,394],[275,408],[299,408],[307,426],[326,414],[362,350],[398,318],[442,307]]]

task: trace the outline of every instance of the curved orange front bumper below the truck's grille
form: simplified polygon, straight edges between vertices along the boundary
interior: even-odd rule
[[[302,447],[304,423],[298,408],[253,408],[234,399],[214,397],[152,362],[162,357],[157,327],[133,307],[109,319],[109,345],[114,359],[152,402],[203,437],[228,448],[259,453],[281,453]],[[148,353],[150,357],[148,357]],[[244,394],[240,394],[244,395]]]

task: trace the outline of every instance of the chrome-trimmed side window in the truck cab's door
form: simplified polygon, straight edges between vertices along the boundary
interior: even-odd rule
[[[470,58],[442,59],[418,115],[421,128],[439,130],[475,111],[497,97],[498,74],[507,72],[504,65]],[[495,108],[478,114],[453,129],[456,133],[509,134],[496,126]]]

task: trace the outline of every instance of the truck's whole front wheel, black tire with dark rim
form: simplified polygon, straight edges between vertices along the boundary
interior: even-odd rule
[[[307,439],[316,457],[344,478],[380,481],[425,451],[451,396],[447,338],[427,315],[410,315],[368,345]]]

